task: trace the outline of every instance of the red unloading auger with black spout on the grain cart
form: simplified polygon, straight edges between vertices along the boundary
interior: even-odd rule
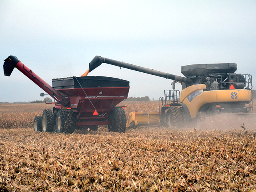
[[[37,84],[42,90],[48,93],[52,98],[58,101],[62,106],[68,107],[69,100],[62,96],[57,90],[52,88],[48,83],[46,83],[42,78],[35,74],[31,69],[25,66],[16,56],[8,56],[4,60],[4,75],[10,76],[14,68],[17,68],[20,72],[26,75],[30,80]]]

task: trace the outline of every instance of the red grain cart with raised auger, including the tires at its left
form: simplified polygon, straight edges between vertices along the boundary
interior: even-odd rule
[[[52,79],[50,86],[16,56],[9,56],[4,60],[4,75],[10,76],[14,68],[56,100],[53,110],[45,109],[42,116],[34,118],[35,131],[70,133],[75,127],[97,130],[98,125],[108,125],[109,131],[125,132],[125,112],[116,105],[127,98],[129,81],[103,76],[72,76]]]

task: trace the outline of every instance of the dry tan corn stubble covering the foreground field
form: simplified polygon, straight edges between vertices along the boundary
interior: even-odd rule
[[[255,191],[256,139],[240,125],[126,134],[103,126],[74,134],[1,128],[0,190]]]

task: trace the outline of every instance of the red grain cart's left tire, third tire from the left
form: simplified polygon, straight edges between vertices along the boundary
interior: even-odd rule
[[[76,125],[76,117],[72,110],[60,109],[56,118],[57,133],[72,133]]]

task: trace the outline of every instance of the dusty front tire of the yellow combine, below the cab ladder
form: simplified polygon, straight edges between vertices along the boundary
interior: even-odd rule
[[[184,122],[184,110],[182,107],[171,107],[167,112],[167,127],[182,127]]]

